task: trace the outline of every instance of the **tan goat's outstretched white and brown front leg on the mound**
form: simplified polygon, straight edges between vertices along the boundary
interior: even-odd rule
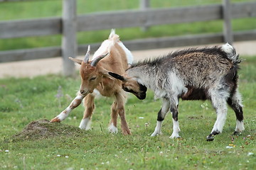
[[[73,111],[74,108],[78,107],[80,103],[82,102],[82,98],[85,98],[82,94],[78,94],[73,101],[70,103],[68,108],[66,108],[64,111],[62,111],[59,115],[57,115],[55,118],[50,120],[50,122],[61,122],[65,118],[68,117],[68,114]]]

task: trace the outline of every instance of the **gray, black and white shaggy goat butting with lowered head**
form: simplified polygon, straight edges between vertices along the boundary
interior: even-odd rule
[[[238,91],[240,60],[235,49],[228,43],[220,47],[191,48],[172,52],[155,60],[138,62],[121,76],[109,74],[121,81],[122,89],[139,99],[146,98],[146,89],[154,91],[155,98],[163,104],[157,116],[156,128],[151,136],[161,134],[161,125],[170,110],[173,118],[173,133],[170,138],[180,137],[178,132],[178,101],[210,100],[217,113],[208,141],[223,131],[227,116],[227,103],[235,111],[234,134],[245,130],[242,99]]]

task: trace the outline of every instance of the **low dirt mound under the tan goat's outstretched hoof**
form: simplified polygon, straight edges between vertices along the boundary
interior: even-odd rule
[[[71,125],[62,123],[50,123],[49,120],[35,120],[28,125],[18,134],[13,135],[10,142],[17,142],[23,140],[41,140],[57,136],[80,136],[84,134],[84,130],[76,128]]]

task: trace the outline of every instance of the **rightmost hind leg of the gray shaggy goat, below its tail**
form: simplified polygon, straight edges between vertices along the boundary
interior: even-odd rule
[[[244,123],[243,123],[243,113],[242,113],[242,99],[238,92],[238,89],[235,91],[230,98],[228,98],[228,105],[235,111],[236,115],[236,126],[235,132],[233,135],[239,135],[242,130],[245,130]]]

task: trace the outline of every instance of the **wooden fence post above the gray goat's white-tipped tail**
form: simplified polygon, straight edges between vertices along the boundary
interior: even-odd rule
[[[230,0],[223,0],[223,36],[224,42],[233,44],[233,30],[231,25],[231,4]]]

